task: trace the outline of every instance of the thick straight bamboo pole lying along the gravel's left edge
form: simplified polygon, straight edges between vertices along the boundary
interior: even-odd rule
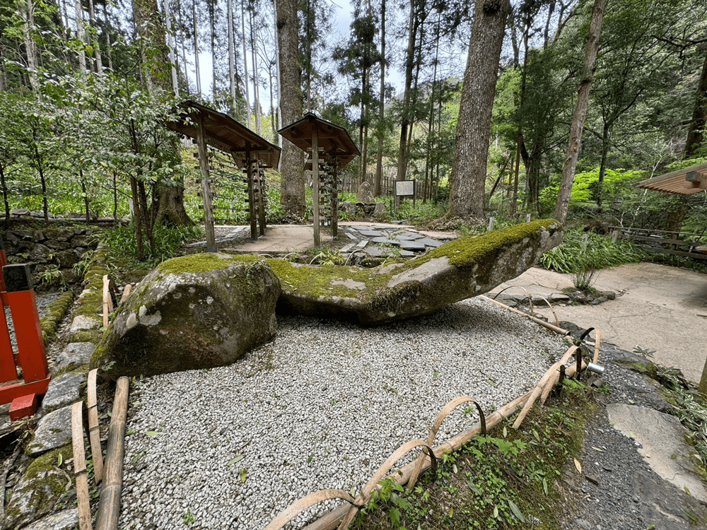
[[[105,451],[105,477],[98,501],[96,530],[116,530],[118,527],[129,386],[130,379],[127,377],[118,379]]]

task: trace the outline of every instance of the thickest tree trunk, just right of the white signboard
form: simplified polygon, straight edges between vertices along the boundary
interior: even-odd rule
[[[503,33],[510,13],[508,0],[477,0],[464,71],[454,165],[450,175],[447,218],[484,217],[486,160],[489,158],[491,110]]]

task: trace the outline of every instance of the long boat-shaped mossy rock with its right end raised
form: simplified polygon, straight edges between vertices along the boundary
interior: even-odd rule
[[[377,324],[428,314],[515,278],[559,245],[562,227],[538,220],[462,237],[406,262],[356,269],[271,259],[280,278],[279,311]]]

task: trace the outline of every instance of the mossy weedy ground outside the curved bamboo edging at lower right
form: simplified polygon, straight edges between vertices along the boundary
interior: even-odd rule
[[[559,530],[564,498],[555,481],[580,459],[585,426],[597,406],[591,389],[568,379],[550,403],[532,408],[518,430],[510,418],[445,454],[437,472],[428,472],[411,491],[384,481],[356,527]]]

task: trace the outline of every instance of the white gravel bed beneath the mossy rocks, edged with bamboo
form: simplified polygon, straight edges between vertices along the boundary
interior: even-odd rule
[[[486,412],[515,399],[565,350],[478,298],[370,329],[279,317],[277,338],[234,365],[132,387],[120,528],[262,529],[304,495],[361,488],[451,399]],[[452,413],[436,444],[477,420]]]

